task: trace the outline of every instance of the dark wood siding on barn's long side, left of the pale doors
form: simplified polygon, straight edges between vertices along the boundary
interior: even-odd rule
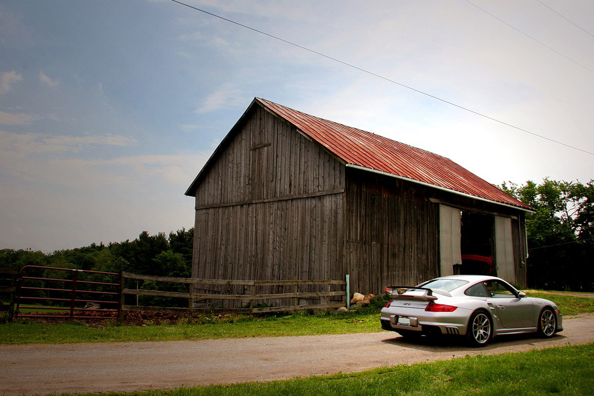
[[[347,169],[345,267],[351,290],[383,293],[439,271],[439,207],[428,189]]]

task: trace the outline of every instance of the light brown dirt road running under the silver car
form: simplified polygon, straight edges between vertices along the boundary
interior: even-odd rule
[[[525,351],[594,341],[594,314],[565,320],[551,338],[408,342],[394,332],[145,343],[0,346],[0,394],[134,391],[271,381],[381,366]],[[425,338],[425,337],[424,337]]]

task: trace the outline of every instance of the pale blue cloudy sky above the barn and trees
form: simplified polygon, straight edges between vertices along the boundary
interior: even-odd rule
[[[471,1],[185,1],[396,84],[170,0],[0,0],[0,249],[189,229],[254,97],[491,183],[594,179],[594,2]]]

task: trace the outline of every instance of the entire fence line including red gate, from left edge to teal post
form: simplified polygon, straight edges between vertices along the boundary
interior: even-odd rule
[[[31,267],[31,266],[29,266]],[[64,271],[78,271],[78,270],[67,270],[64,268],[53,268],[53,267],[35,267],[37,269],[45,270],[64,270]],[[81,271],[85,272],[85,271]],[[86,271],[89,272],[89,271]],[[91,286],[109,284],[116,287],[119,290],[113,290],[113,292],[97,291],[97,290],[81,290],[81,293],[103,293],[103,294],[114,294],[115,301],[103,301],[103,300],[89,300],[90,297],[76,297],[74,292],[71,298],[60,297],[50,298],[50,296],[41,297],[27,297],[21,296],[21,289],[39,289],[39,290],[51,290],[52,292],[68,292],[68,290],[49,288],[46,286],[40,287],[19,287],[17,282],[19,278],[19,271],[11,268],[0,268],[0,293],[8,294],[8,304],[0,304],[0,311],[8,311],[9,320],[14,316],[15,302],[20,299],[35,299],[35,300],[59,300],[60,302],[67,302],[71,306],[71,310],[77,311],[116,311],[116,309],[102,309],[98,307],[91,308],[77,308],[75,304],[83,304],[85,302],[93,302],[97,305],[105,303],[113,303],[118,306],[120,322],[124,320],[125,311],[149,311],[149,312],[173,312],[173,313],[187,313],[188,318],[191,319],[192,313],[200,312],[233,312],[233,313],[265,313],[265,312],[289,312],[296,311],[298,309],[328,309],[328,308],[339,308],[341,306],[349,307],[349,275],[346,275],[345,280],[219,280],[219,279],[197,279],[197,278],[173,278],[173,277],[160,277],[154,275],[139,275],[127,272],[121,274],[112,274],[119,277],[119,287],[117,281],[115,283],[102,283],[99,281],[84,281],[84,283]],[[22,277],[24,279],[34,279],[38,281],[59,281],[62,279],[53,279],[52,277]],[[127,280],[136,280],[136,289],[130,289],[127,286]],[[70,281],[70,280],[62,280]],[[144,290],[138,288],[138,281],[153,281],[159,283],[171,284],[187,284],[188,293],[184,292],[169,292],[164,290]],[[82,282],[82,281],[81,281]],[[112,281],[113,282],[113,281]],[[128,281],[128,284],[131,282]],[[167,286],[167,285],[166,285]],[[287,290],[290,293],[257,293],[258,288],[264,290]],[[92,288],[91,288],[92,289]],[[337,290],[340,289],[340,290]],[[74,289],[73,289],[74,290]],[[208,290],[208,293],[204,291]],[[241,290],[243,294],[233,294],[231,291]],[[318,290],[318,291],[312,291]],[[321,290],[321,291],[320,291]],[[93,294],[95,295],[95,294]],[[136,305],[126,305],[126,296],[135,295],[137,296]],[[176,299],[187,300],[187,307],[169,307],[169,306],[149,306],[149,305],[138,305],[138,296],[152,296],[152,297],[173,297]],[[119,301],[118,301],[119,298]],[[222,303],[222,305],[228,305],[229,307],[241,307],[241,308],[214,308],[211,304],[202,304],[201,302],[209,302],[216,300],[218,302],[227,301],[229,303]],[[287,301],[287,303],[279,303]],[[271,303],[275,306],[266,306],[266,304],[258,304],[259,302]],[[305,303],[304,303],[305,302]],[[300,305],[301,303],[301,305]],[[157,305],[157,304],[154,304]],[[178,304],[179,305],[179,304]],[[278,305],[278,306],[277,306]],[[36,307],[24,307],[24,308],[36,308]],[[59,306],[39,306],[39,309],[64,309]],[[31,315],[29,316],[39,316]],[[21,315],[19,315],[21,316]],[[22,315],[24,316],[24,315]],[[47,315],[45,315],[47,316]],[[71,316],[64,315],[53,315],[52,317],[68,319]],[[90,317],[93,318],[93,317]],[[97,319],[109,318],[109,316],[97,316]]]

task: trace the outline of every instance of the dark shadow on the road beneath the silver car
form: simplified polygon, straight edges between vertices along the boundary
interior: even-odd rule
[[[500,347],[529,344],[536,346],[549,340],[563,340],[561,334],[555,334],[552,338],[538,338],[535,334],[509,334],[495,337],[485,347],[478,347],[476,350],[489,350]],[[416,339],[407,339],[401,335],[386,338],[381,342],[394,346],[418,349],[424,351],[466,351],[470,348],[466,339],[461,336],[432,335],[422,336]]]

